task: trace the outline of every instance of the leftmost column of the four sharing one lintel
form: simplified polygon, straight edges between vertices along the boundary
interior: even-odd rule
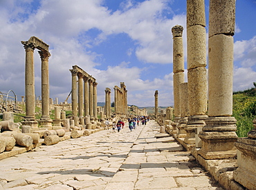
[[[72,74],[72,115],[77,116],[77,71],[70,71]]]

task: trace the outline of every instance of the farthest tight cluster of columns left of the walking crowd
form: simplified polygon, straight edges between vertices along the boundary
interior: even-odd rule
[[[127,89],[125,83],[121,82],[120,87],[117,85],[113,88],[115,90],[115,112],[116,114],[127,114]]]

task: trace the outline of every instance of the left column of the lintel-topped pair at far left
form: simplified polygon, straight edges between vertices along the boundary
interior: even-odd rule
[[[25,63],[25,97],[26,97],[26,116],[22,123],[37,128],[35,121],[35,72],[34,72],[34,50],[35,43],[21,41],[26,51]]]

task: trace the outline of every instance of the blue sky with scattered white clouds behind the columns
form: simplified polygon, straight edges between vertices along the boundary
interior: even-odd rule
[[[208,32],[208,7],[205,16]],[[186,68],[185,0],[0,0],[0,92],[24,96],[25,50],[21,41],[37,36],[50,45],[50,96],[64,101],[71,91],[72,65],[104,89],[125,82],[128,103],[173,105],[172,32],[183,25]],[[256,0],[237,0],[233,89],[256,82]],[[207,36],[205,36],[208,39]],[[206,52],[205,52],[206,53]],[[35,94],[41,94],[41,61],[37,50]],[[185,72],[185,81],[186,79]]]

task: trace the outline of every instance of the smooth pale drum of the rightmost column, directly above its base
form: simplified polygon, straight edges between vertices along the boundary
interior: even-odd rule
[[[232,116],[233,38],[219,34],[209,39],[208,116]],[[220,85],[221,84],[221,85]]]

